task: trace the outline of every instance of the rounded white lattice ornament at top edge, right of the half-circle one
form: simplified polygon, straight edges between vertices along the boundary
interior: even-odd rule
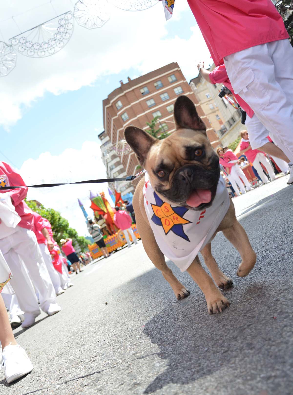
[[[79,0],[73,15],[80,26],[96,29],[109,21],[109,4],[106,0]]]

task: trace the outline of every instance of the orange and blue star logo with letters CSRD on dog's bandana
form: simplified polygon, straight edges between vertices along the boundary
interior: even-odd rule
[[[165,235],[167,235],[170,230],[172,230],[175,235],[182,237],[186,241],[189,241],[188,236],[184,233],[183,225],[191,224],[191,221],[182,218],[183,215],[188,211],[185,207],[171,207],[169,203],[163,202],[162,199],[154,192],[154,198],[156,204],[151,204],[153,209],[153,216],[151,220],[154,224],[163,226]]]

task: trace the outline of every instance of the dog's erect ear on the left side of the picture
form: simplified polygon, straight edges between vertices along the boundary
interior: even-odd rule
[[[136,154],[136,158],[140,165],[144,166],[147,152],[149,152],[149,149],[157,139],[154,139],[150,134],[135,126],[127,126],[124,130],[124,137],[127,144],[130,145]]]

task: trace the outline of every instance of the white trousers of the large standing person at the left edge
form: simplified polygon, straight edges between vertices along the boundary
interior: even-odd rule
[[[17,231],[12,235],[0,239],[0,250],[2,250],[4,258],[11,269],[13,278],[17,278],[20,281],[23,278],[23,274],[21,270],[19,270],[21,267],[17,265],[17,267],[14,266],[14,270],[12,269],[9,260],[9,252],[12,250],[21,257],[28,270],[30,279],[39,293],[40,307],[43,311],[47,312],[49,305],[51,303],[56,303],[56,294],[43,260],[36,235],[32,230],[21,228],[20,226],[17,226],[17,228]],[[11,282],[11,285],[13,286],[19,303],[21,303],[21,299],[25,297],[23,290],[16,290],[13,282]],[[24,310],[22,307],[21,309]]]

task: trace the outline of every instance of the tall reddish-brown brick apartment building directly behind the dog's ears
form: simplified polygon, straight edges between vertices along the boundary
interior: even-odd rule
[[[108,98],[103,100],[104,132],[99,135],[102,140],[101,150],[107,145],[116,145],[124,139],[123,131],[126,126],[133,125],[146,130],[146,122],[159,116],[159,125],[164,131],[172,133],[175,130],[173,109],[176,98],[184,94],[196,105],[198,115],[207,126],[207,135],[213,147],[219,145],[219,140],[202,111],[195,94],[186,81],[180,67],[173,62],[157,70],[128,82],[120,81],[120,87],[113,90]],[[159,126],[158,125],[158,126]],[[108,177],[123,177],[137,172],[138,161],[133,152],[104,161]],[[137,182],[133,182],[134,185]]]

